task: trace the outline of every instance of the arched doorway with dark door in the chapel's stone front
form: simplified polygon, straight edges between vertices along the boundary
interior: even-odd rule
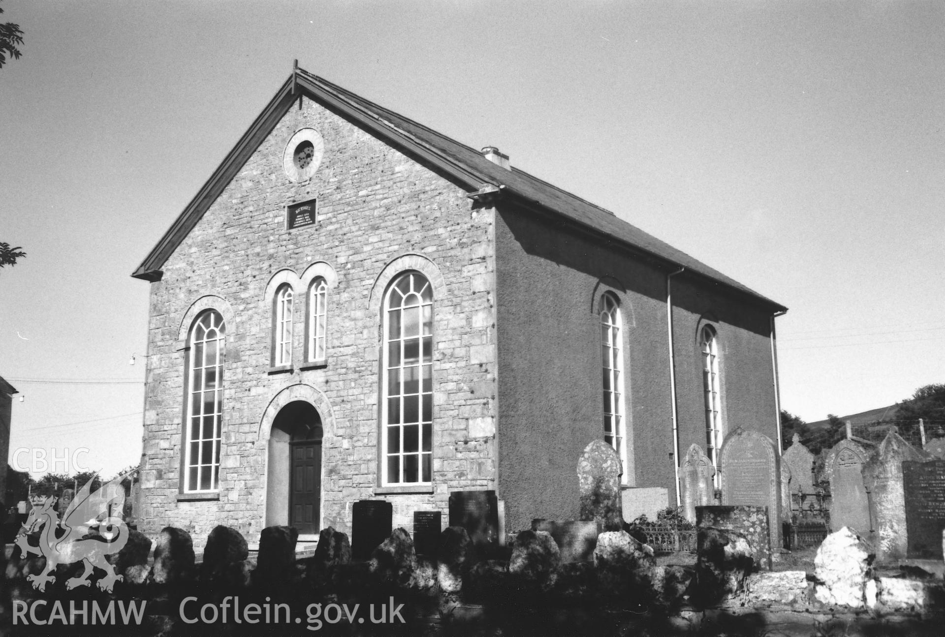
[[[318,533],[321,514],[321,418],[305,401],[284,405],[269,433],[266,525]]]

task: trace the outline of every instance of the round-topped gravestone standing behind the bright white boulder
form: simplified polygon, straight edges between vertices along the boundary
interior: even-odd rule
[[[869,453],[850,439],[833,445],[827,463],[830,477],[830,530],[836,533],[844,526],[869,539],[869,500],[863,483],[863,465]]]

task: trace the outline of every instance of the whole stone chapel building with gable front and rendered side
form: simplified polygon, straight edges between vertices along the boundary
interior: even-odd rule
[[[576,519],[593,439],[626,517],[678,503],[691,444],[780,439],[782,305],[301,69],[133,276],[150,535],[350,532],[367,499],[411,530],[472,490],[508,532]]]

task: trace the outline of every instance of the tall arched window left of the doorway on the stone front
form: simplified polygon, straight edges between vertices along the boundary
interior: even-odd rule
[[[184,491],[219,488],[225,334],[215,310],[201,314],[190,330]]]

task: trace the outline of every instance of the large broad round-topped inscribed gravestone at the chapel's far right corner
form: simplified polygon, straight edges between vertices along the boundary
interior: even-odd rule
[[[781,474],[774,442],[757,431],[735,429],[722,443],[722,505],[767,507],[772,546],[781,546]]]

